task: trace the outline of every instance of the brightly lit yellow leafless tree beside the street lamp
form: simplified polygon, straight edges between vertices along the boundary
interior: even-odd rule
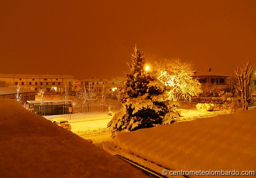
[[[180,59],[163,59],[156,63],[156,76],[165,86],[169,100],[178,102],[181,98],[191,99],[202,92],[201,84],[193,79],[193,65]]]

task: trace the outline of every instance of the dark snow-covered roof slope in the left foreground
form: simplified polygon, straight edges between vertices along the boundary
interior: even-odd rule
[[[0,99],[0,177],[146,177],[126,162],[24,109]]]

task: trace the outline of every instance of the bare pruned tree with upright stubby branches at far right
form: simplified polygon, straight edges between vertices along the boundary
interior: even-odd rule
[[[239,72],[240,67],[237,67],[237,71],[235,71],[238,77],[238,86],[236,88],[241,92],[241,103],[242,103],[242,110],[248,110],[248,99],[249,99],[249,85],[250,80],[252,77],[252,66],[249,69],[249,61],[246,61],[246,66],[241,69],[241,73]]]

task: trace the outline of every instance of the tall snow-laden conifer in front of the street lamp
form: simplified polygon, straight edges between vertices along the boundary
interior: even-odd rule
[[[108,123],[113,136],[121,131],[174,123],[179,117],[174,111],[178,103],[165,101],[166,87],[145,71],[145,63],[144,53],[135,46],[132,63],[128,64],[131,73],[122,82],[122,107]]]

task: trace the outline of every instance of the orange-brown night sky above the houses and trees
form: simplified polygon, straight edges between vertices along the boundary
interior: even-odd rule
[[[0,2],[0,73],[124,76],[137,47],[148,62],[180,57],[197,71],[256,69],[255,0]]]

